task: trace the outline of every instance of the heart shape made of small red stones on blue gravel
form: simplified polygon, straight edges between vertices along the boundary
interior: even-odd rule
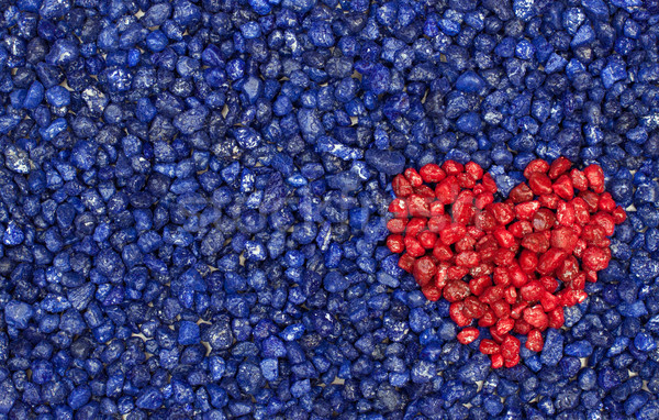
[[[587,298],[587,281],[611,259],[611,236],[625,210],[604,191],[597,165],[572,168],[565,157],[530,162],[525,183],[501,198],[476,163],[409,168],[393,179],[396,198],[389,250],[429,300],[450,302],[450,318],[492,367],[520,362],[521,341],[539,352],[543,332],[563,324],[563,308]],[[471,325],[471,327],[468,327]]]

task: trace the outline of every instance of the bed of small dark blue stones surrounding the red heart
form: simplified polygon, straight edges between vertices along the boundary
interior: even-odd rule
[[[658,85],[657,0],[0,0],[0,419],[658,419]],[[636,211],[492,371],[391,179],[558,156]]]

